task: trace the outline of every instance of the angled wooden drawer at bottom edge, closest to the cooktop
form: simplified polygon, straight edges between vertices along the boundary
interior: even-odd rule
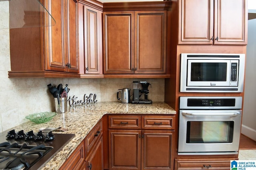
[[[60,170],[80,170],[84,164],[84,140],[77,146],[74,152],[68,157],[64,164],[60,167]]]

